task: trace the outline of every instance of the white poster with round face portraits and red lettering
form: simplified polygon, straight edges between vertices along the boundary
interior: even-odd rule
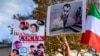
[[[14,19],[12,52],[22,56],[44,56],[44,21]]]

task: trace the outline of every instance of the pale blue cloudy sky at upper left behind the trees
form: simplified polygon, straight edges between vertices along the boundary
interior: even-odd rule
[[[28,16],[36,7],[32,0],[0,0],[0,40],[11,38],[10,28],[13,15]]]

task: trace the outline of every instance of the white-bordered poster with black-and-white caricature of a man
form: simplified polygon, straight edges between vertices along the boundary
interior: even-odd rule
[[[81,33],[86,19],[86,0],[59,3],[48,7],[47,35]]]

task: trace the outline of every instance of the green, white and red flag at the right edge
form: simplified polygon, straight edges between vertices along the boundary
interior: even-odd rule
[[[97,52],[100,52],[100,10],[91,3],[87,16],[86,31],[81,38],[82,44],[88,44]]]

